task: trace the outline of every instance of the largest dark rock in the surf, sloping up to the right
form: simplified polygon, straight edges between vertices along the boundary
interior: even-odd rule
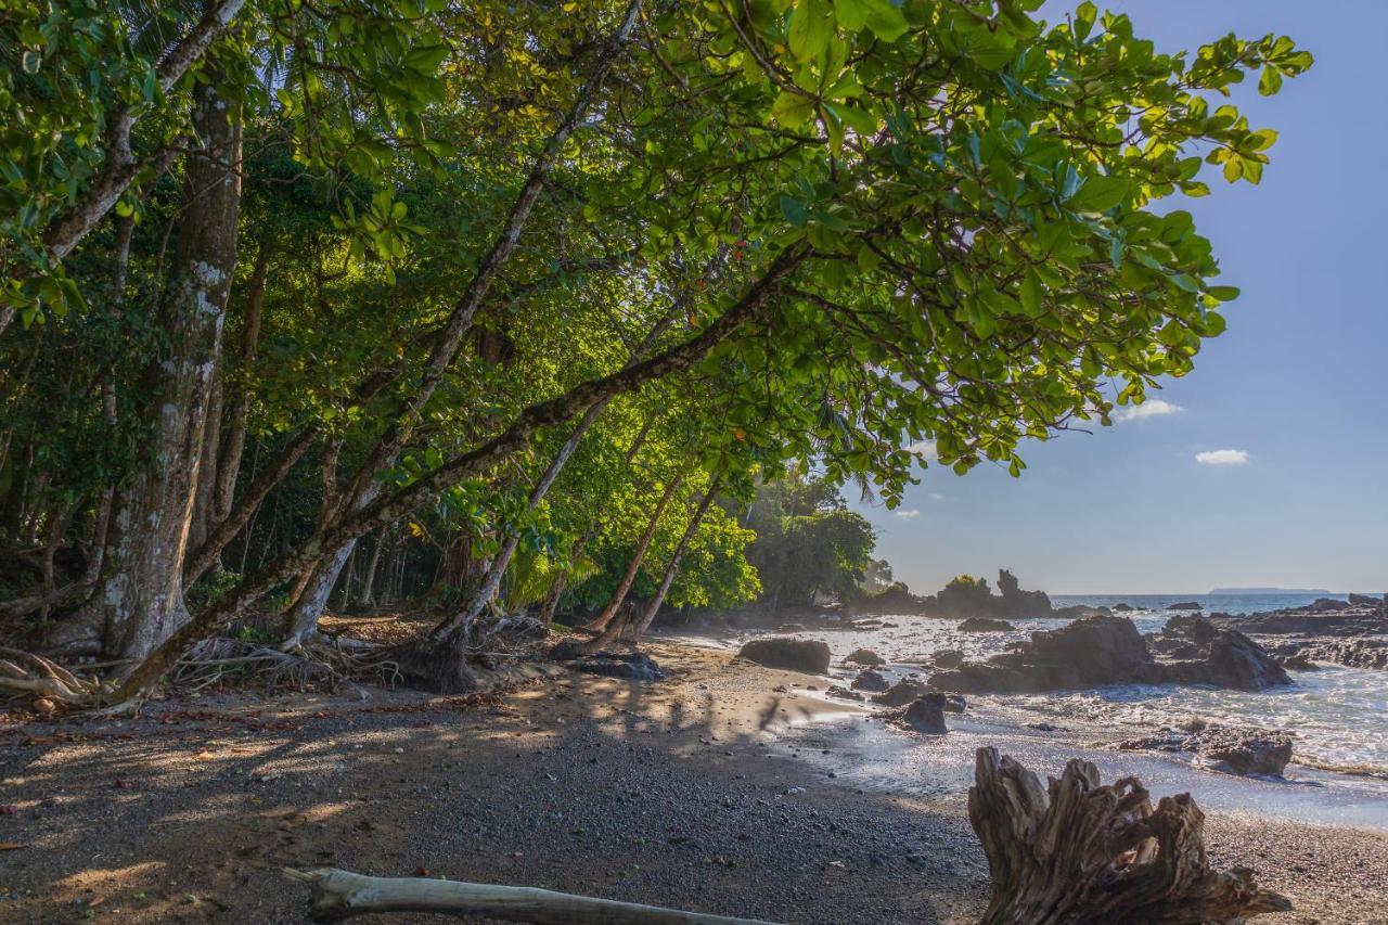
[[[987,662],[965,662],[936,672],[930,686],[963,693],[1033,693],[1119,683],[1159,683],[1152,658],[1133,621],[1090,617],[1059,629],[1038,631],[1027,642]]]

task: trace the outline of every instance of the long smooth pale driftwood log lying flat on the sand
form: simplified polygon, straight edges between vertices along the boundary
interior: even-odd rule
[[[364,876],[336,868],[286,869],[285,874],[310,885],[310,915],[316,922],[339,922],[379,912],[439,912],[539,925],[770,925],[750,918],[682,912],[530,886]]]

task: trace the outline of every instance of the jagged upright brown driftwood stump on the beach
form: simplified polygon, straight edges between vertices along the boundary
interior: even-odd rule
[[[1137,778],[1099,783],[1088,761],[1060,779],[979,749],[969,818],[992,871],[984,925],[1237,922],[1291,908],[1252,871],[1213,871],[1205,814],[1188,793],[1152,808]]]

